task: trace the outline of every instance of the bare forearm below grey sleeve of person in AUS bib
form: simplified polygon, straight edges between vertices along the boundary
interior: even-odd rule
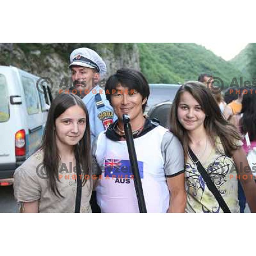
[[[174,177],[167,177],[167,185],[171,194],[168,212],[185,212],[186,190],[184,173]]]

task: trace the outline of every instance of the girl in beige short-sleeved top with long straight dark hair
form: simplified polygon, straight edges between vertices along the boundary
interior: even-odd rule
[[[77,179],[82,180],[80,212],[91,212],[88,111],[78,96],[60,94],[49,109],[42,148],[15,171],[20,212],[75,212]]]

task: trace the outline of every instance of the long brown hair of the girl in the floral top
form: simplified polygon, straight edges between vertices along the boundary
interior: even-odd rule
[[[221,110],[212,96],[212,93],[205,87],[204,84],[198,81],[188,81],[183,84],[177,91],[175,99],[172,103],[170,123],[171,131],[175,134],[183,144],[184,155],[189,147],[191,140],[186,129],[178,121],[177,110],[180,104],[180,96],[184,92],[189,92],[195,100],[201,105],[202,110],[205,113],[204,128],[212,143],[212,145],[220,151],[216,144],[216,137],[219,137],[224,147],[225,153],[231,157],[232,151],[237,149],[236,141],[241,140],[239,132],[236,127],[228,122],[224,116],[222,116]]]

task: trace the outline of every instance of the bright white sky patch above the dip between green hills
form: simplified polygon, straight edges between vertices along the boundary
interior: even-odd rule
[[[212,42],[212,43],[196,43],[203,45],[206,49],[211,50],[216,55],[221,56],[224,60],[229,61],[246,47],[248,43],[229,43],[229,42]]]

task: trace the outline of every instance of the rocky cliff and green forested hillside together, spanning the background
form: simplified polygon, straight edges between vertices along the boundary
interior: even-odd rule
[[[90,47],[105,60],[105,79],[122,67],[141,70],[149,83],[183,83],[200,73],[218,76],[227,87],[233,77],[248,77],[246,49],[232,61],[194,43],[15,43],[0,44],[0,65],[13,65],[38,76],[48,76],[55,89],[70,76],[69,56],[77,47]],[[12,52],[12,54],[11,54]]]

